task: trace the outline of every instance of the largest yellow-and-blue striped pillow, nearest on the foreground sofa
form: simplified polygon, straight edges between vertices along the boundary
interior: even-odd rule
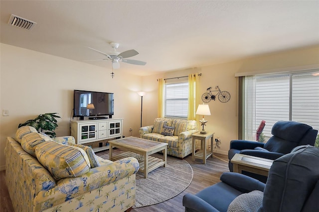
[[[90,161],[85,151],[55,141],[36,145],[35,155],[55,180],[78,177],[90,171]]]

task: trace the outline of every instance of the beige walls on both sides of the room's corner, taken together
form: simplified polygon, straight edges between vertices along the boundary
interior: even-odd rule
[[[122,74],[119,70],[112,79],[109,74],[111,71],[106,68],[6,44],[0,44],[0,54],[0,170],[4,169],[5,164],[5,138],[14,136],[18,123],[40,113],[58,112],[62,119],[58,121],[57,135],[70,134],[74,89],[114,92],[114,117],[124,118],[125,136],[130,135],[130,127],[133,128],[133,136],[138,136],[141,97],[136,92],[147,92],[143,98],[143,126],[151,125],[157,117],[157,79],[196,72],[202,73],[199,78],[200,96],[208,87],[214,88],[216,85],[231,95],[227,103],[220,103],[218,100],[209,102],[211,115],[205,116],[208,120],[205,129],[215,132],[215,137],[220,136],[221,139],[220,148],[216,148],[216,152],[227,154],[230,140],[237,138],[236,73],[264,70],[271,72],[319,64],[319,46],[315,46],[146,77]],[[8,109],[10,115],[2,116],[2,109]]]

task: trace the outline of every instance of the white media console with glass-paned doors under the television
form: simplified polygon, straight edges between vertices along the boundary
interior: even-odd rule
[[[72,120],[71,135],[75,138],[76,143],[84,145],[112,138],[122,138],[122,123],[123,118]],[[109,146],[93,146],[95,152],[106,149],[109,149]]]

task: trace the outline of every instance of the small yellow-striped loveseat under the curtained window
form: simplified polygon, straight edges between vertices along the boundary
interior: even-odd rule
[[[178,158],[191,153],[191,135],[198,131],[195,120],[173,118],[155,118],[154,125],[139,130],[141,138],[167,143],[167,154]]]

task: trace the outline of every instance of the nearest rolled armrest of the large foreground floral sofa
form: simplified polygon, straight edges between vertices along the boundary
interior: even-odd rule
[[[134,157],[127,157],[107,165],[95,167],[80,177],[64,178],[48,191],[41,191],[35,198],[36,202],[49,199],[68,200],[76,196],[91,192],[95,189],[116,183],[120,179],[128,178],[139,170],[139,162]]]

